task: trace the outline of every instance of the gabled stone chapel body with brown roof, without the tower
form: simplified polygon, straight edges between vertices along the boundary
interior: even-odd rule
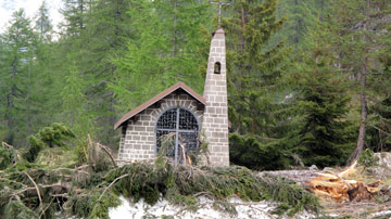
[[[114,127],[123,130],[119,163],[155,158],[161,137],[169,133],[178,136],[186,150],[197,150],[204,105],[200,94],[179,82],[126,114]],[[179,153],[174,147],[167,156],[180,163]]]

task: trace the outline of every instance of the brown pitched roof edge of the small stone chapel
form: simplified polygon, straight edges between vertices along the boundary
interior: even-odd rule
[[[153,105],[154,103],[156,103],[157,101],[162,100],[163,98],[169,95],[171,93],[175,92],[176,90],[181,89],[184,91],[186,91],[189,95],[191,95],[192,98],[194,98],[197,101],[199,101],[200,103],[202,103],[203,105],[206,105],[206,100],[200,95],[199,93],[197,93],[193,89],[191,89],[190,87],[188,87],[187,85],[185,85],[184,82],[177,82],[174,86],[167,88],[166,90],[162,91],[161,93],[159,93],[157,95],[151,98],[149,101],[147,101],[146,103],[137,106],[136,108],[134,108],[133,111],[128,112],[127,114],[125,114],[115,125],[114,125],[114,129],[117,129],[118,127],[121,127],[125,121],[127,121],[128,119],[130,119],[131,117],[134,117],[135,115],[139,114],[140,112],[142,112],[143,110],[150,107],[151,105]]]

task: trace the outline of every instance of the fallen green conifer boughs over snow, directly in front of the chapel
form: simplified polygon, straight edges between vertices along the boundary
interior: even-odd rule
[[[140,198],[153,205],[160,198],[173,204],[186,204],[197,209],[198,197],[215,199],[216,207],[236,214],[235,206],[226,202],[237,196],[243,201],[278,202],[281,212],[294,215],[301,210],[317,212],[318,199],[295,182],[270,175],[260,177],[245,167],[174,166],[169,159],[164,166],[148,163],[134,163],[110,171],[106,181],[117,181],[112,192]]]

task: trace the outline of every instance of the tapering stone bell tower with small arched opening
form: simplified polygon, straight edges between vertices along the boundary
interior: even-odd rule
[[[228,101],[225,31],[218,28],[211,42],[203,96],[206,99],[202,129],[213,166],[229,165]]]

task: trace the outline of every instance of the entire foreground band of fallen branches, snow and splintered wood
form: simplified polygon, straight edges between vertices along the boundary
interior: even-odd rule
[[[0,146],[0,215],[5,219],[50,219],[59,218],[59,212],[65,218],[106,219],[109,209],[125,202],[121,196],[133,199],[133,209],[135,206],[156,208],[157,211],[172,208],[184,216],[195,211],[210,216],[200,218],[224,218],[224,214],[228,214],[229,218],[249,215],[258,216],[255,218],[312,218],[319,212],[331,216],[358,214],[360,217],[375,218],[383,217],[376,215],[380,211],[387,217],[391,209],[391,180],[381,178],[381,190],[380,181],[369,184],[374,179],[379,179],[370,168],[354,166],[344,171],[328,169],[324,172],[287,170],[258,173],[240,166],[175,166],[160,155],[155,163],[139,162],[115,168],[110,150],[93,142],[90,137],[84,151],[85,162],[77,163],[79,159],[68,155],[72,151],[65,144],[53,143],[46,138],[52,136],[49,134],[51,132],[61,133],[66,129],[55,125],[53,129],[46,130],[37,136],[38,146],[23,153],[12,145],[3,143]],[[58,138],[64,141],[64,138]],[[30,157],[31,162],[26,157]],[[319,175],[326,181],[320,183]],[[326,198],[319,203],[315,195],[303,189],[317,194],[317,185],[325,185],[325,182],[331,189],[342,186],[341,196],[344,197],[346,191],[360,186],[358,182],[365,190],[374,191],[374,195],[360,199],[363,202],[345,202],[341,198],[345,203],[336,204],[336,198],[331,198],[332,202]],[[323,211],[320,204],[326,207]]]

